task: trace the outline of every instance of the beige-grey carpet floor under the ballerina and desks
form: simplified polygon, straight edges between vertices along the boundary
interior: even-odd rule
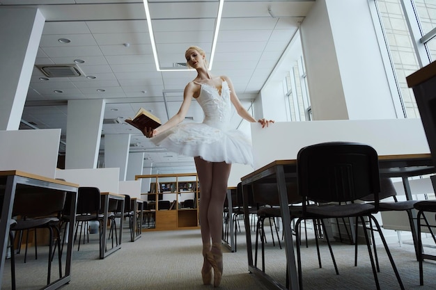
[[[269,234],[269,233],[267,233]],[[267,236],[266,272],[282,284],[286,279],[286,255],[284,249],[272,245]],[[254,240],[253,240],[254,241]],[[321,244],[322,268],[318,268],[316,247],[302,248],[304,289],[375,289],[373,273],[365,245],[359,245],[359,264],[354,266],[354,246],[334,243],[334,255],[340,275],[334,273],[332,260],[325,243]],[[424,263],[424,286],[419,286],[418,262],[412,245],[389,245],[403,279],[405,289],[436,289],[436,264]],[[224,277],[219,289],[251,290],[267,289],[265,284],[248,272],[247,247],[244,232],[238,233],[238,252],[224,248]],[[384,249],[377,246],[380,259],[380,288],[399,289]],[[17,255],[17,289],[40,289],[45,284],[47,271],[47,247],[38,247],[38,259],[33,250],[23,263],[24,251]],[[57,277],[54,260],[52,277]],[[135,242],[129,241],[128,232],[123,236],[122,248],[105,259],[98,258],[98,235],[91,234],[90,242],[75,251],[72,263],[72,280],[64,290],[88,289],[212,289],[201,282],[200,231],[182,230],[167,232],[143,232]],[[260,263],[260,261],[259,261]],[[259,264],[260,265],[260,264]],[[10,261],[7,260],[1,289],[10,289]]]

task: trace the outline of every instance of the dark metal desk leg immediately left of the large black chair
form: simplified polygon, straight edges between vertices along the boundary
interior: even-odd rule
[[[283,218],[283,232],[285,236],[285,250],[286,250],[286,266],[288,267],[289,289],[297,290],[298,274],[297,267],[295,266],[295,253],[293,236],[290,229],[290,214],[288,209],[288,193],[286,191],[286,179],[283,166],[277,166],[277,185],[279,186],[279,199],[281,216]]]

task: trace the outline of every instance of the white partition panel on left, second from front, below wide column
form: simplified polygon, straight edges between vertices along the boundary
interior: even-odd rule
[[[56,170],[56,178],[79,186],[98,187],[100,192],[118,193],[120,168],[84,168]]]

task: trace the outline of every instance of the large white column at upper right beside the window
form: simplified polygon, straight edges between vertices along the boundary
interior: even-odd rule
[[[301,38],[314,120],[396,118],[368,0],[318,0]]]

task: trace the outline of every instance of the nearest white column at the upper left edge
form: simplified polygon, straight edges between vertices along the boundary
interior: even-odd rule
[[[0,130],[17,130],[45,17],[38,8],[0,8]]]

